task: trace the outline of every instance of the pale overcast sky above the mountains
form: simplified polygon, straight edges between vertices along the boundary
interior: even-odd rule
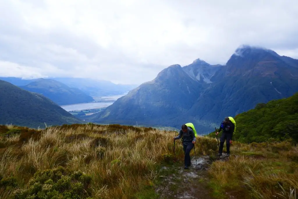
[[[241,44],[298,58],[298,1],[0,0],[0,76],[141,84]]]

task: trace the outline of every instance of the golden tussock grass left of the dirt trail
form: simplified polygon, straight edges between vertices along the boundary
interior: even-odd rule
[[[15,130],[17,129],[17,130]],[[11,133],[15,130],[17,133]],[[158,177],[177,132],[120,125],[63,125],[42,130],[1,126],[0,172],[28,187],[36,172],[62,166],[91,176],[93,198],[132,198]],[[176,146],[183,158],[182,146]],[[17,187],[14,187],[17,189]],[[12,189],[0,190],[0,197]]]

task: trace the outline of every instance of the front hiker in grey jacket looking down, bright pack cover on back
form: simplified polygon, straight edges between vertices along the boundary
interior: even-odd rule
[[[184,151],[184,169],[188,169],[190,166],[190,151],[193,149],[195,144],[195,134],[193,129],[187,127],[185,124],[181,126],[181,130],[177,137],[174,137],[174,140],[180,139],[182,136],[183,151]]]

